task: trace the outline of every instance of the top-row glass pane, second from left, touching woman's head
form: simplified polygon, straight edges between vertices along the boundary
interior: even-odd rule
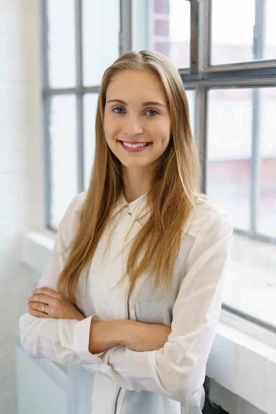
[[[120,2],[83,0],[82,5],[83,84],[95,86],[119,57]]]

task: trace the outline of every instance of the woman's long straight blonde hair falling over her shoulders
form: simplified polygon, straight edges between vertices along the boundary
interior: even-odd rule
[[[190,128],[186,92],[177,68],[164,55],[153,50],[126,52],[103,74],[92,174],[79,227],[57,284],[59,291],[72,303],[77,302],[76,290],[81,272],[92,260],[112,207],[124,191],[121,163],[106,142],[103,112],[106,90],[112,77],[125,70],[151,70],[157,75],[166,92],[172,131],[168,147],[152,175],[147,195],[150,216],[132,241],[128,255],[129,295],[137,278],[149,268],[154,277],[154,290],[161,284],[163,288],[170,286],[184,224],[195,209],[195,197],[201,194],[199,156]],[[142,252],[144,256],[140,260]]]

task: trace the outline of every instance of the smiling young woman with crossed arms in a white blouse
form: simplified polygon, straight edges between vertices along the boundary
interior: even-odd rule
[[[188,406],[233,227],[199,183],[177,69],[150,50],[119,57],[101,83],[88,190],[61,219],[19,320],[30,357],[68,365],[68,413],[201,413]]]

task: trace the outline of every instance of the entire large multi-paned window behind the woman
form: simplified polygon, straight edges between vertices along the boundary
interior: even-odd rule
[[[41,1],[46,226],[88,187],[103,71],[158,50],[186,88],[202,190],[235,227],[223,306],[276,332],[275,20],[274,0]]]

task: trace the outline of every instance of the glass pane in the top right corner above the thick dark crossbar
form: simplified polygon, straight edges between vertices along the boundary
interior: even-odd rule
[[[255,21],[255,0],[212,0],[212,65],[276,59],[276,1],[259,1],[258,4]]]

